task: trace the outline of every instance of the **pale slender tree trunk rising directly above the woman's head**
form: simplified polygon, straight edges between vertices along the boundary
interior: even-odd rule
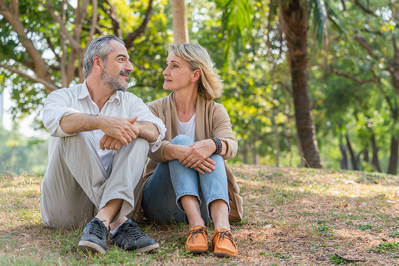
[[[175,43],[188,43],[188,27],[184,0],[172,0],[172,23]]]

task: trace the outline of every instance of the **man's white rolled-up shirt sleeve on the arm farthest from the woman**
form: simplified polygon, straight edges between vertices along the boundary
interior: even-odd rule
[[[71,107],[72,98],[66,89],[60,89],[51,92],[44,103],[43,123],[44,126],[50,130],[51,137],[69,137],[73,135],[66,134],[61,126],[60,120],[62,117],[80,113],[80,111]]]

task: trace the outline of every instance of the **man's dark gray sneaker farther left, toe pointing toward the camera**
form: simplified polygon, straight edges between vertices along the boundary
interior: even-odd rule
[[[83,227],[82,237],[79,241],[79,248],[93,252],[105,253],[107,250],[108,228],[100,219],[93,218]]]

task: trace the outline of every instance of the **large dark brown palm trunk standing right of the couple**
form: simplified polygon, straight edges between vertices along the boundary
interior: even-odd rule
[[[298,138],[307,164],[312,168],[322,168],[308,91],[308,10],[301,5],[301,0],[294,0],[283,8],[282,14],[289,51]]]

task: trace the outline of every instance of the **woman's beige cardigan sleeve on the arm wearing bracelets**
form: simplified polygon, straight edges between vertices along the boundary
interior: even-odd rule
[[[230,117],[222,104],[217,104],[212,117],[212,137],[218,138],[227,144],[224,160],[233,159],[237,153],[238,141],[235,139],[231,129]]]

